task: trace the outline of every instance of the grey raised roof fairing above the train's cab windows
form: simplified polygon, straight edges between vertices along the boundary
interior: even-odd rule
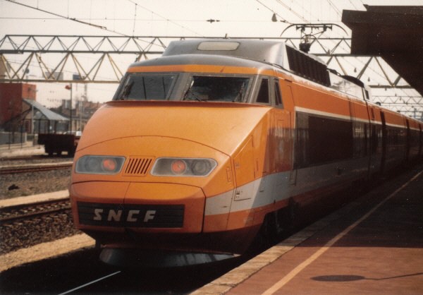
[[[317,56],[306,54],[281,41],[254,39],[194,39],[171,42],[158,59],[140,61],[131,66],[165,66],[209,64],[271,69],[273,66],[294,73],[355,97],[362,94],[364,83],[357,78],[341,76],[327,68]]]

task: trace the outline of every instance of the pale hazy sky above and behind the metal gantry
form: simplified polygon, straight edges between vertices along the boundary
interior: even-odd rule
[[[365,11],[364,4],[423,5],[423,0],[0,0],[0,40],[4,35],[279,37],[290,23],[336,23],[349,35],[341,23],[342,11]],[[276,22],[271,20],[274,14]],[[300,37],[294,28],[284,34]],[[348,37],[339,29],[327,34]],[[18,64],[23,57],[9,58]],[[125,71],[133,59],[116,61]],[[76,97],[84,95],[83,85],[74,87]],[[117,84],[90,84],[87,96],[106,102],[116,88]],[[37,89],[37,101],[47,107],[69,97],[61,83],[38,83]]]

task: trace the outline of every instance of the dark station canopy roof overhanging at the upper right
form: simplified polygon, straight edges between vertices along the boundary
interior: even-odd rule
[[[380,55],[423,95],[423,6],[367,6],[343,11],[351,54]]]

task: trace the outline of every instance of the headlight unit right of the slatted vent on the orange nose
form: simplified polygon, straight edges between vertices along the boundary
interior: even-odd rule
[[[216,166],[214,159],[159,158],[151,173],[155,176],[208,176]]]

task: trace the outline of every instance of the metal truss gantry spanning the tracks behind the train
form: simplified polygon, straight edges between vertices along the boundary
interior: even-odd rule
[[[173,40],[194,38],[199,37],[5,35],[0,40],[0,83],[118,83],[131,62],[160,56]],[[301,40],[239,38],[280,40],[295,48]],[[400,95],[374,93],[374,101],[417,119],[423,117],[422,97],[398,73],[381,57],[352,55],[350,48],[350,38],[319,37],[312,41],[310,53],[319,56],[329,68],[363,80],[374,92],[403,90]]]

